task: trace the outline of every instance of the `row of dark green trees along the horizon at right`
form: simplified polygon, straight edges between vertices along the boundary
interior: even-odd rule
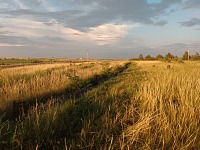
[[[189,55],[188,52],[185,52],[182,57],[174,56],[171,53],[167,53],[165,56],[158,54],[156,57],[151,55],[143,56],[139,55],[138,58],[134,60],[162,60],[162,61],[178,61],[178,60],[200,60],[200,55],[198,52],[195,55]]]

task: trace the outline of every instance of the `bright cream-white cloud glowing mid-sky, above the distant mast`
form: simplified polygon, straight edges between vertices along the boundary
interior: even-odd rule
[[[60,24],[54,27],[56,31],[64,34],[68,39],[82,43],[93,43],[96,45],[114,44],[125,37],[128,31],[139,26],[139,24],[104,24],[98,27],[89,28],[83,32],[72,28],[65,28]]]

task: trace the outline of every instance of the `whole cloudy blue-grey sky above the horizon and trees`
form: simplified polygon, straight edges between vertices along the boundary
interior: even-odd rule
[[[0,0],[0,57],[200,53],[200,0]]]

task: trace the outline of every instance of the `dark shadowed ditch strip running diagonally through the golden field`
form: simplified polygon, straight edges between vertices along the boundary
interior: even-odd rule
[[[15,100],[12,104],[6,108],[0,110],[0,114],[5,114],[3,121],[16,120],[19,116],[26,115],[30,108],[45,105],[52,99],[54,103],[63,103],[66,100],[80,98],[84,93],[123,73],[131,63],[126,63],[124,66],[117,66],[112,69],[106,69],[99,75],[94,75],[87,79],[81,79],[78,76],[69,76],[71,84],[62,91],[55,91],[51,93],[45,93],[37,97],[26,99],[25,101]]]

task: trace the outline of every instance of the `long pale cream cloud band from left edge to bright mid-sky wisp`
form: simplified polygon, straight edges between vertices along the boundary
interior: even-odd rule
[[[128,31],[139,24],[104,24],[89,28],[87,31],[79,31],[67,28],[55,20],[50,20],[51,25],[34,21],[31,18],[0,18],[0,32],[7,32],[7,36],[39,39],[44,37],[62,38],[79,43],[92,43],[96,45],[112,45],[128,34]]]

